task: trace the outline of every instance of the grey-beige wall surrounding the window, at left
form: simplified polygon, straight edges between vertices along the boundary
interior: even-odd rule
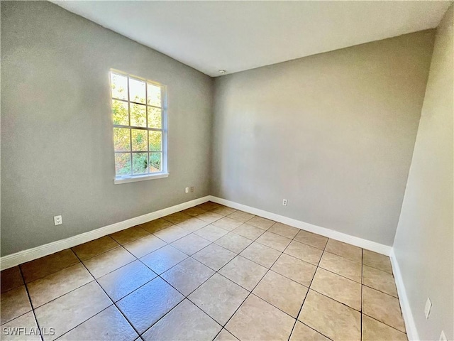
[[[167,85],[169,178],[114,185],[110,68]],[[1,255],[208,195],[212,82],[47,1],[1,1]]]

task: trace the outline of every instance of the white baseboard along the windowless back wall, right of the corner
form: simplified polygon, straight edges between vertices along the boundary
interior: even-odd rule
[[[282,224],[298,227],[299,229],[304,229],[306,231],[314,232],[316,234],[321,234],[322,236],[336,239],[340,242],[352,244],[355,245],[355,247],[362,247],[362,249],[375,251],[379,254],[384,254],[386,256],[389,256],[392,250],[392,247],[389,247],[388,245],[372,242],[370,240],[362,239],[359,237],[350,236],[350,234],[334,231],[333,229],[327,229],[326,227],[320,227],[313,224],[309,224],[307,222],[301,222],[300,220],[284,217],[283,215],[276,215],[275,213],[272,212],[267,212],[264,210],[259,210],[258,208],[255,207],[238,204],[237,202],[222,199],[221,197],[214,197],[213,195],[211,195],[210,200],[212,202],[217,202],[218,204],[221,205],[235,208],[236,210],[242,210],[253,215],[260,215],[260,217],[275,220],[276,222],[282,222]]]

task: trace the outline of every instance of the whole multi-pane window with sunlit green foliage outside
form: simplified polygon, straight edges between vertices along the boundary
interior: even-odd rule
[[[114,70],[110,75],[115,183],[166,177],[165,86]]]

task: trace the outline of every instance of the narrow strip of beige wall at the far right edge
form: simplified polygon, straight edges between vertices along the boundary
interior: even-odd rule
[[[421,340],[454,339],[453,6],[438,27],[418,135],[394,240]],[[432,310],[424,316],[426,298]]]

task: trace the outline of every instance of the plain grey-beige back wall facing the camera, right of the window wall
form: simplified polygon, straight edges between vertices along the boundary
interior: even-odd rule
[[[392,245],[433,35],[216,78],[211,194]]]

